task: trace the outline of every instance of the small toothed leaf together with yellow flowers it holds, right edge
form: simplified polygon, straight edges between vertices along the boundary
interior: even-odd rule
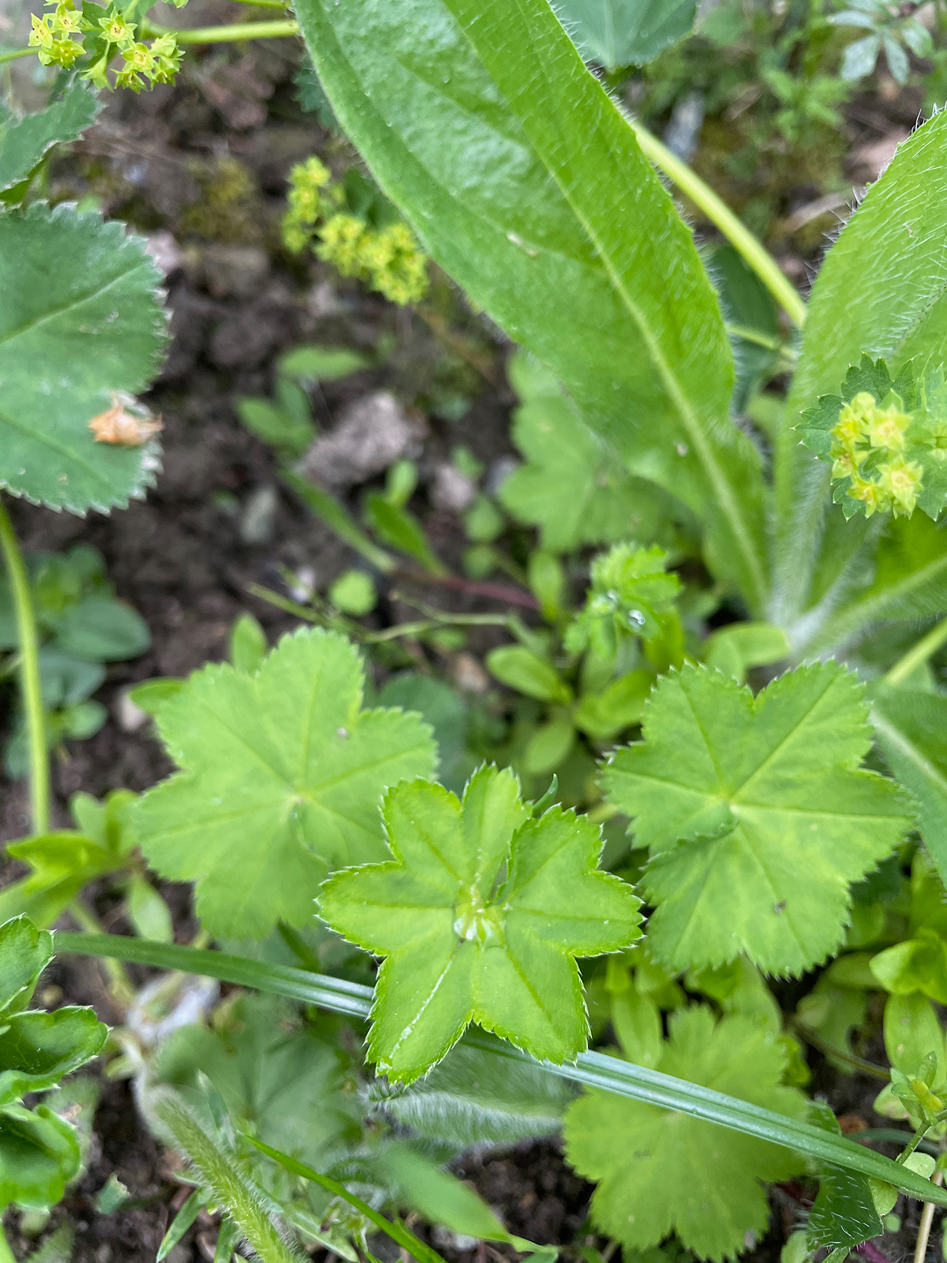
[[[884,360],[862,355],[841,395],[822,395],[797,426],[807,447],[832,465],[832,498],[846,518],[914,508],[937,519],[947,504],[947,380],[909,361],[891,379]]]

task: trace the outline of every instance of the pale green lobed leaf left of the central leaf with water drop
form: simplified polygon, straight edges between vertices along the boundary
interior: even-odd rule
[[[210,666],[157,722],[184,770],[134,813],[163,877],[197,883],[212,935],[263,938],[304,925],[327,870],[385,854],[379,805],[429,775],[431,729],[400,710],[361,710],[364,668],[341,635],[284,637],[256,674]]]

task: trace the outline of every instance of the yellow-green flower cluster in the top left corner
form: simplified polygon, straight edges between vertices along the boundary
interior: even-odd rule
[[[91,32],[105,43],[101,57],[83,71],[83,78],[96,87],[109,87],[109,63],[116,56],[121,57],[122,66],[115,73],[115,87],[140,92],[146,85],[173,83],[182,57],[174,37],[164,34],[146,44],[135,39],[135,30],[136,23],[128,21],[117,9],[110,9],[105,18],[92,23],[76,8],[74,0],[56,0],[52,13],[42,18],[33,15],[29,43],[37,48],[44,66],[72,66],[77,57],[88,52],[83,35]]]

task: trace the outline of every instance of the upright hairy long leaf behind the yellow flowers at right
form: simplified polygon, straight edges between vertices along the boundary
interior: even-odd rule
[[[943,359],[946,150],[947,116],[938,114],[899,148],[867,191],[812,287],[779,438],[775,601],[782,625],[808,604],[823,547],[830,481],[826,466],[798,446],[790,427],[799,412],[813,407],[819,395],[837,393],[862,352],[884,357],[893,375],[914,356],[918,362]]]

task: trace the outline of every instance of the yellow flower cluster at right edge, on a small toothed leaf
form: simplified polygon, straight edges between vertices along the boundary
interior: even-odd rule
[[[832,427],[832,477],[851,480],[849,495],[865,505],[866,517],[891,512],[908,517],[918,503],[923,470],[905,457],[912,416],[900,399],[886,408],[861,390],[838,413]]]

